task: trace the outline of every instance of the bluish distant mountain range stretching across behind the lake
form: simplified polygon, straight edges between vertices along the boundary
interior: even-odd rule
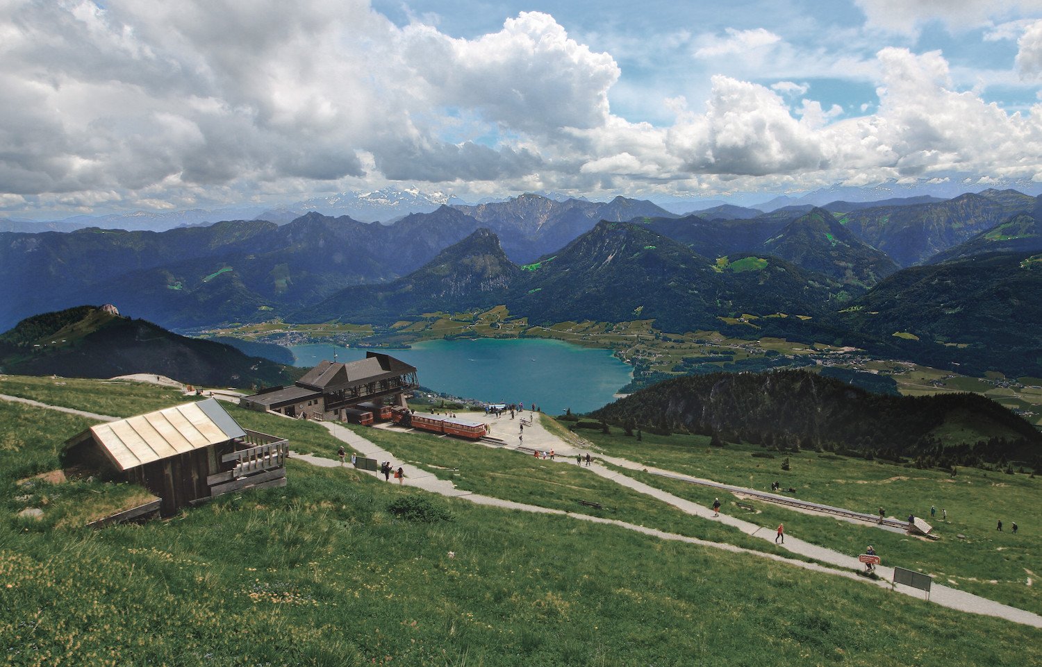
[[[650,318],[983,369],[1040,363],[984,342],[991,331],[1018,350],[1035,341],[1038,313],[1017,300],[1036,286],[1039,200],[985,190],[847,204],[705,220],[641,200],[525,195],[389,225],[313,212],[283,225],[0,233],[0,326],[81,303],[181,330],[274,316],[390,324],[502,303],[534,324]],[[1001,251],[1019,255],[988,263]],[[950,313],[935,312],[942,303]],[[971,311],[986,316],[949,316]]]

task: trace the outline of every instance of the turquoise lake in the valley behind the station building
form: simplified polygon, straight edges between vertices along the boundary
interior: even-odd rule
[[[333,352],[337,361],[365,359],[367,352],[323,343],[290,351],[298,366],[332,359]],[[535,404],[548,414],[596,410],[632,378],[632,369],[611,352],[560,340],[428,340],[380,352],[416,366],[425,387],[489,403]]]

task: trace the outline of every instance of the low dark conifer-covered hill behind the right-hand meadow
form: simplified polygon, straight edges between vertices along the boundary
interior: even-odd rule
[[[668,380],[592,416],[786,447],[926,457],[935,465],[1002,459],[1042,467],[1042,434],[989,399],[883,395],[803,370]]]

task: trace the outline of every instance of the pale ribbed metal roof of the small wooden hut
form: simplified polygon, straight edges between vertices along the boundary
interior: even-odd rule
[[[246,435],[215,399],[99,424],[89,432],[121,470]],[[77,436],[69,442],[79,441]]]

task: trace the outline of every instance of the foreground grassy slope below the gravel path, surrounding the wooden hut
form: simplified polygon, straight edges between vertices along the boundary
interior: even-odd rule
[[[230,412],[298,452],[339,446],[314,424]],[[19,481],[54,469],[61,442],[90,424],[0,403],[3,664],[1042,665],[1029,649],[1037,628],[756,556],[475,506],[293,459],[284,488],[229,493],[141,525],[76,528],[64,498],[119,498],[132,487]],[[403,458],[461,467],[457,484],[494,495],[543,487],[528,502],[552,507],[610,493],[567,465],[525,474],[518,466],[530,464],[514,453],[383,436]],[[794,471],[810,467],[802,456]],[[493,470],[527,480],[486,477]],[[611,507],[611,497],[594,499]],[[402,498],[450,518],[399,518]],[[44,518],[18,517],[25,507]],[[660,512],[649,507],[636,522],[675,518],[683,528]]]

